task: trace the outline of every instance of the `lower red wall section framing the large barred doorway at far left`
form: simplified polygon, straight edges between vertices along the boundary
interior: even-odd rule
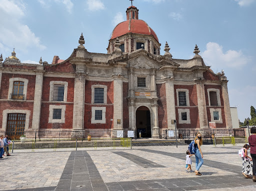
[[[33,116],[33,102],[0,101],[0,122],[2,122],[2,112],[5,109],[9,109],[9,110],[29,110],[30,111],[30,117],[29,117],[28,129],[31,129],[32,116]],[[0,129],[1,128],[2,128],[2,123],[0,124]]]

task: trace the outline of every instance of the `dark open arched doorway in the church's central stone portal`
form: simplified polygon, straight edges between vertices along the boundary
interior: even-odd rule
[[[145,106],[141,106],[136,110],[136,130],[137,137],[139,137],[139,132],[141,132],[142,138],[151,138],[150,111]]]

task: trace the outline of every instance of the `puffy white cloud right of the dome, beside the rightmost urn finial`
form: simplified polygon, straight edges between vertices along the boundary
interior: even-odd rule
[[[223,52],[223,47],[215,42],[208,42],[206,50],[201,53],[201,56],[208,65],[214,68],[220,66],[240,68],[249,61],[249,58],[243,55],[241,50],[227,50]]]

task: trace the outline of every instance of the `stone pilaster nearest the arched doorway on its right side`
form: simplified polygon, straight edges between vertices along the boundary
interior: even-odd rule
[[[165,91],[166,91],[166,109],[167,109],[167,124],[168,129],[175,129],[175,125],[171,124],[171,120],[176,120],[176,111],[175,111],[175,92],[174,84],[171,80],[166,80],[165,82]]]

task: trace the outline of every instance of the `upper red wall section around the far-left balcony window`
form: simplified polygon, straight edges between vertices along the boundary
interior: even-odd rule
[[[28,79],[26,100],[34,99],[34,84],[35,75],[24,74],[6,74],[2,73],[0,99],[8,99],[9,79],[10,78],[25,78]]]

